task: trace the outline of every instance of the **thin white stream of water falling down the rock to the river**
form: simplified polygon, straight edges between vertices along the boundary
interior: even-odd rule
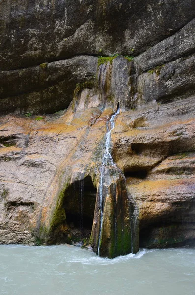
[[[110,143],[111,143],[111,131],[115,127],[114,119],[115,117],[119,114],[120,108],[119,106],[117,107],[116,113],[114,113],[110,120],[107,121],[106,124],[106,141],[105,141],[105,152],[102,160],[102,165],[100,168],[100,186],[99,186],[99,199],[100,199],[100,234],[99,234],[99,242],[98,242],[98,256],[100,252],[100,244],[101,244],[101,237],[102,237],[102,225],[103,225],[103,179],[104,179],[104,171],[105,171],[105,166],[107,166],[109,159],[111,160],[111,164],[114,165],[113,158],[109,152],[110,148]],[[110,127],[111,125],[111,127]],[[115,165],[114,165],[115,166]],[[116,228],[116,226],[115,226]]]

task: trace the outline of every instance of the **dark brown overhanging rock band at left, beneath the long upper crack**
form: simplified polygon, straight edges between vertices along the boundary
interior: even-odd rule
[[[79,56],[1,72],[0,112],[54,113],[65,109],[76,84],[94,80],[96,71],[97,58]]]

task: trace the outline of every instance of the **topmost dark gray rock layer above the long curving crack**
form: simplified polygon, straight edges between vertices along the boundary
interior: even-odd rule
[[[194,0],[3,0],[0,68],[100,52],[138,55],[194,17]]]

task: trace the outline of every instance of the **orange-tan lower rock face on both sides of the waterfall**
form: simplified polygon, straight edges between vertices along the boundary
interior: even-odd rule
[[[160,105],[158,112],[156,106],[142,113],[123,112],[112,131],[114,161],[126,177],[127,193],[136,207],[142,246],[181,245],[195,238],[191,230],[195,223],[194,111],[181,115],[190,101]],[[14,146],[0,148],[1,243],[29,244],[37,237],[47,243],[89,238],[98,153],[109,113],[109,109],[101,114],[99,108],[91,108],[80,111],[77,118],[70,108],[58,118],[47,115],[40,121],[1,117],[1,138],[3,134],[17,138]],[[94,116],[98,119],[91,125]],[[83,187],[81,233],[81,191],[74,183],[89,176],[90,185]]]

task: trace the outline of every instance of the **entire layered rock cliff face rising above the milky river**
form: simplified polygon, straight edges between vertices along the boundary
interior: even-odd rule
[[[0,243],[195,244],[194,30],[192,0],[0,2]]]

